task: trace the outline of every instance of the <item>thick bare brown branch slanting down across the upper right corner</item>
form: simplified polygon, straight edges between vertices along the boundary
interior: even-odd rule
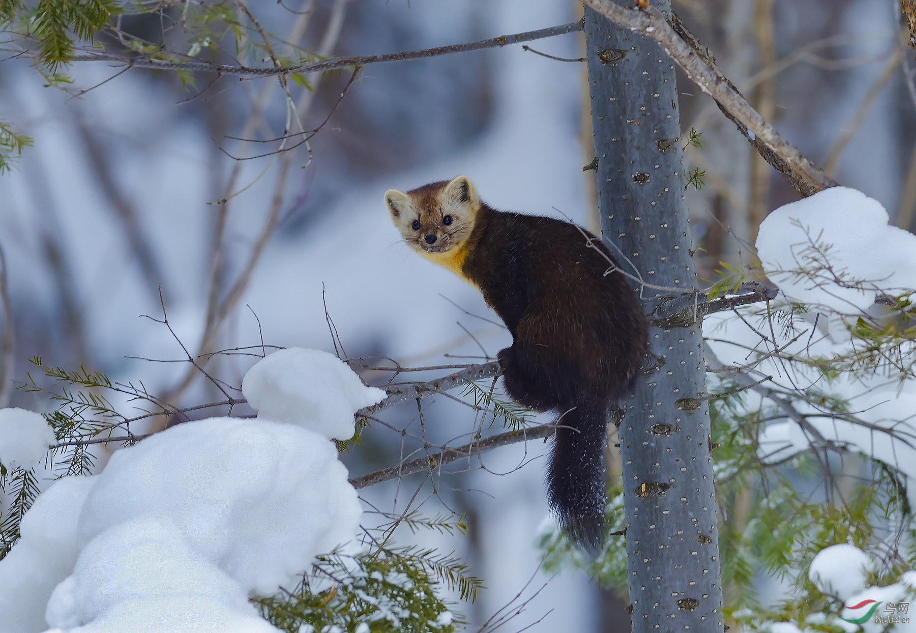
[[[616,5],[612,0],[583,0],[583,3],[621,27],[658,42],[691,81],[714,99],[719,109],[758,150],[760,156],[779,171],[795,191],[802,196],[809,196],[836,186],[834,179],[804,157],[797,147],[783,138],[747,103],[735,84],[728,81],[716,67],[708,49],[687,31],[678,16],[672,16],[669,24],[664,14],[649,5],[647,0],[638,0],[638,8],[635,9]]]

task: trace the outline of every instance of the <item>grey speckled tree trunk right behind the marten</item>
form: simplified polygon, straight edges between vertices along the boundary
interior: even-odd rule
[[[589,8],[585,41],[604,235],[644,284],[692,289],[674,64]],[[680,294],[644,284],[633,284],[644,301]],[[640,377],[620,425],[635,633],[723,630],[701,324],[650,327],[657,369]]]

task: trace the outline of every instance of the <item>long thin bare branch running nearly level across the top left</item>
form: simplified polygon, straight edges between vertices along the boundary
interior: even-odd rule
[[[225,64],[213,64],[207,61],[153,60],[146,56],[127,57],[125,55],[116,55],[107,52],[86,52],[74,57],[73,61],[108,61],[115,64],[125,64],[133,68],[149,68],[158,71],[213,72],[217,75],[234,75],[237,77],[273,77],[276,75],[299,74],[303,72],[333,71],[341,68],[365,66],[367,64],[377,64],[386,61],[422,60],[429,57],[463,53],[469,50],[496,49],[509,46],[510,44],[518,44],[519,42],[529,42],[534,39],[552,38],[557,35],[574,33],[581,31],[582,28],[583,22],[580,20],[559,27],[539,28],[535,31],[502,35],[498,38],[481,39],[479,41],[467,42],[464,44],[439,46],[434,49],[409,50],[398,53],[385,53],[382,55],[334,57],[328,60],[310,61],[308,63],[299,64],[298,66],[270,68],[228,66]]]

